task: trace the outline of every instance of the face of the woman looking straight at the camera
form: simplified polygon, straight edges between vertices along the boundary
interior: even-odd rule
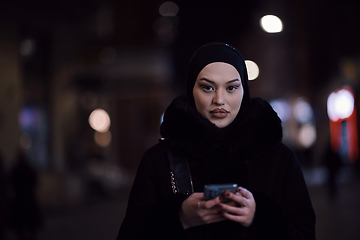
[[[240,74],[228,63],[210,63],[197,76],[193,95],[198,112],[224,128],[240,110],[244,96]]]

